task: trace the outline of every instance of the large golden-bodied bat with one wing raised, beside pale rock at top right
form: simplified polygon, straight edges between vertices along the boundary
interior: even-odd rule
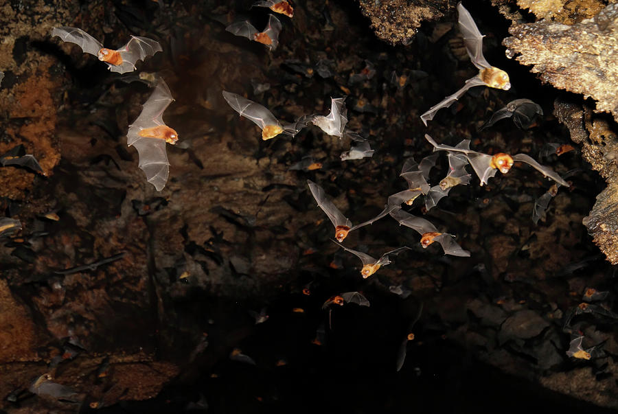
[[[474,23],[470,12],[464,8],[464,5],[459,2],[457,4],[457,12],[459,13],[459,31],[464,36],[464,44],[466,45],[466,51],[472,61],[472,65],[479,69],[479,73],[466,80],[464,87],[459,91],[453,93],[444,98],[438,104],[435,104],[429,111],[421,115],[423,124],[427,126],[427,121],[433,119],[434,115],[442,108],[448,108],[453,102],[459,99],[468,89],[473,87],[490,87],[496,89],[503,89],[508,91],[511,88],[509,75],[502,69],[493,67],[485,60],[483,56],[483,35],[479,32],[477,24]]]

